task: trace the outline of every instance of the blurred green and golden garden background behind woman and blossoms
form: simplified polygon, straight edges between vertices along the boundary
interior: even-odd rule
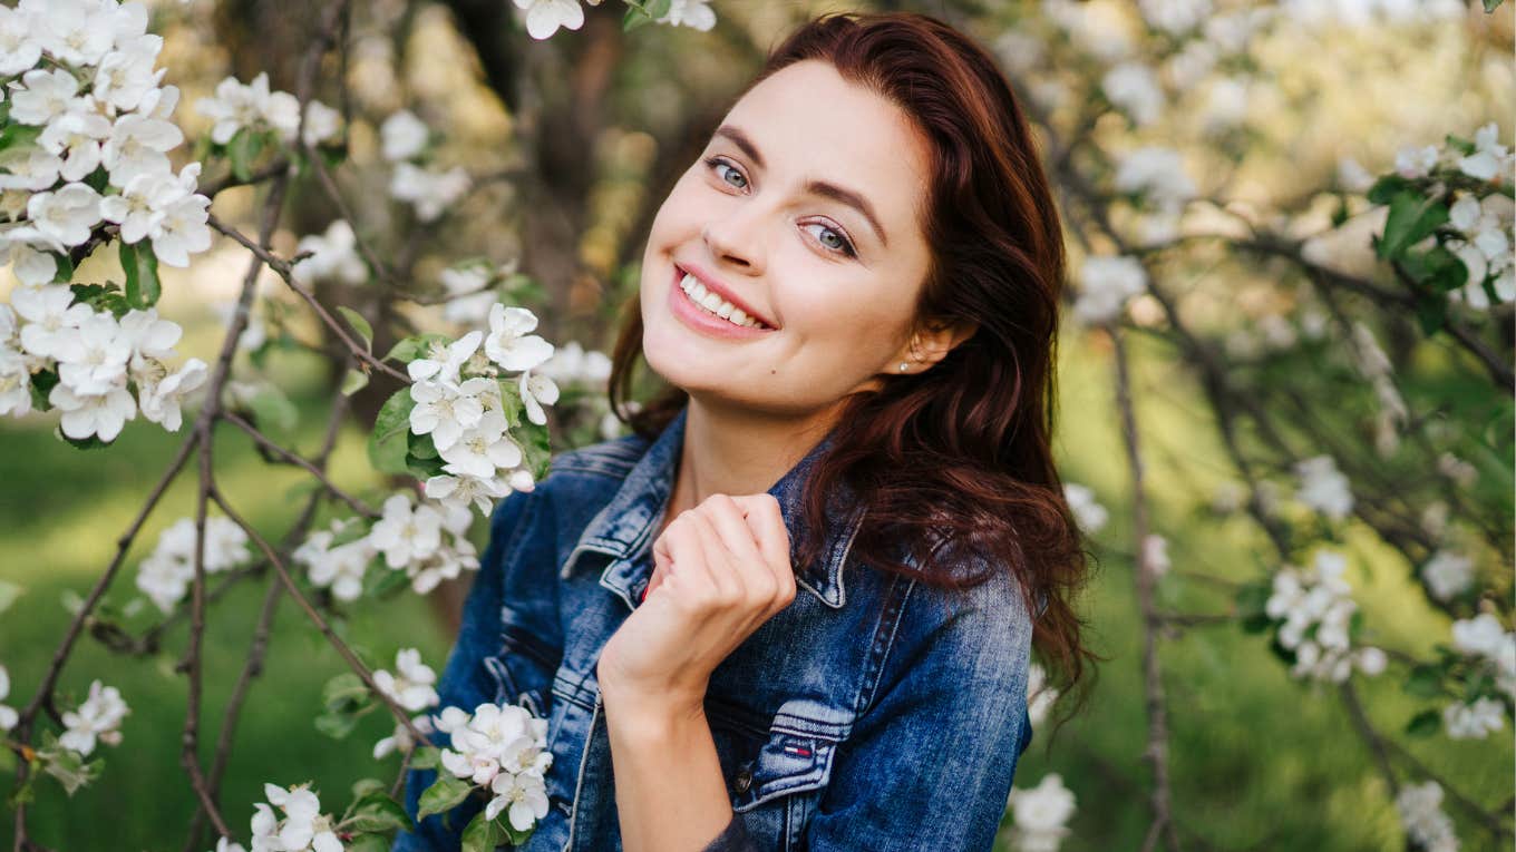
[[[155,32],[165,36],[161,65],[183,89],[176,114],[186,135],[209,129],[194,102],[218,80],[249,80],[267,71],[274,88],[293,89],[320,3],[190,0],[156,3]],[[1145,5],[1146,11],[1152,6]],[[1226,230],[1233,214],[1272,233],[1304,238],[1333,230],[1342,186],[1342,159],[1372,174],[1392,171],[1399,150],[1442,144],[1446,133],[1472,138],[1499,121],[1510,141],[1516,68],[1513,9],[1484,12],[1478,3],[1389,3],[1370,0],[1283,5],[1176,3],[1198,8],[1187,39],[1210,39],[1220,61],[1179,79],[1164,77],[1160,115],[1142,121],[1104,96],[1105,73],[1123,56],[1148,56],[1167,67],[1181,39],[1123,3],[875,3],[837,5],[778,0],[717,2],[709,32],[644,26],[623,32],[620,6],[588,8],[575,32],[531,39],[506,0],[400,2],[355,5],[346,32],[346,62],[329,58],[317,96],[350,99],[349,156],[337,170],[355,227],[391,258],[420,294],[443,293],[443,271],[461,258],[515,261],[531,285],[515,296],[543,317],[556,343],[579,341],[608,350],[614,318],[634,293],[641,238],[662,193],[703,147],[732,92],[756,70],[778,36],[805,17],[841,8],[901,8],[938,14],[991,47],[1034,109],[1061,188],[1066,215],[1090,220],[1105,209],[1120,233],[1145,244],[1152,233]],[[1207,18],[1267,9],[1269,26],[1228,42]],[[1172,12],[1172,9],[1170,9]],[[1178,14],[1178,12],[1175,12]],[[1122,47],[1125,45],[1125,47]],[[340,85],[346,79],[346,86]],[[1107,86],[1110,88],[1110,86]],[[379,123],[411,109],[440,133],[438,162],[475,176],[473,190],[449,215],[418,221],[394,203],[388,164],[379,155]],[[1108,168],[1101,152],[1163,144],[1184,153],[1202,199],[1182,223],[1102,190]],[[1102,171],[1104,170],[1104,171]],[[1079,188],[1070,176],[1085,176]],[[1510,183],[1507,182],[1507,188]],[[1092,191],[1095,199],[1078,200]],[[1104,196],[1101,193],[1105,193]],[[247,221],[258,190],[230,190],[214,212]],[[300,236],[321,233],[338,217],[329,200],[297,183],[274,247],[296,253]],[[1369,233],[1383,215],[1351,208],[1349,221],[1313,246],[1311,258],[1369,280],[1393,282],[1375,264]],[[1072,208],[1078,206],[1078,211]],[[1196,209],[1199,208],[1199,209]],[[1082,212],[1079,212],[1082,211]],[[1217,224],[1222,223],[1222,224]],[[1145,236],[1146,235],[1146,236]],[[1246,235],[1237,235],[1234,241]],[[1158,236],[1163,241],[1169,236]],[[1296,249],[1299,249],[1296,246]],[[1088,253],[1113,253],[1108,238],[1070,235],[1073,270]],[[108,255],[108,253],[105,253]],[[118,274],[111,256],[91,259],[97,274]],[[247,255],[218,240],[186,271],[164,271],[159,309],[186,327],[180,353],[209,359],[220,347],[226,306],[238,290]],[[1278,484],[1281,523],[1301,544],[1330,543],[1349,555],[1346,578],[1363,612],[1366,641],[1393,649],[1386,675],[1355,678],[1354,700],[1334,684],[1292,678],[1270,649],[1269,634],[1242,629],[1237,593],[1267,579],[1281,564],[1269,537],[1236,499],[1242,476],[1223,441],[1231,420],[1208,396],[1205,371],[1176,343],[1169,315],[1154,294],[1137,296],[1122,321],[1134,412],[1145,459],[1148,526],[1167,541],[1167,570],[1155,578],[1155,605],[1198,617],[1167,623],[1158,635],[1161,687],[1169,726],[1173,817],[1187,849],[1343,850],[1404,849],[1405,829],[1393,807],[1393,775],[1427,772],[1496,820],[1446,803],[1464,849],[1511,844],[1513,747],[1510,726],[1486,740],[1410,737],[1405,726],[1437,702],[1405,688],[1405,659],[1431,658],[1448,644],[1449,623],[1480,606],[1508,625],[1511,602],[1511,396],[1492,385],[1448,335],[1417,330],[1408,309],[1339,293],[1325,303],[1289,259],[1248,253],[1225,241],[1195,241],[1184,252],[1152,258],[1172,299],[1207,341],[1236,390],[1278,420],[1298,458],[1333,452],[1354,470],[1367,517],[1319,525],[1289,503],[1290,464],[1260,438],[1260,424],[1242,418],[1236,440]],[[0,283],[0,288],[9,287]],[[376,350],[396,330],[458,327],[440,306],[393,305],[387,285],[323,282],[323,297],[382,311]],[[1070,293],[1070,299],[1072,299]],[[1402,311],[1401,317],[1395,317]],[[258,397],[262,423],[305,452],[320,443],[332,388],[340,381],[320,352],[294,340],[318,340],[296,300],[268,276],[258,308],[273,344],[238,356],[238,379]],[[1369,382],[1343,352],[1345,337],[1272,347],[1264,329],[1278,321],[1307,327],[1308,315],[1340,315],[1375,324],[1392,355],[1401,393],[1416,418],[1399,428],[1401,449],[1375,446],[1378,403]],[[1270,317],[1273,320],[1270,320]],[[1339,317],[1340,318],[1340,317]],[[1508,361],[1510,305],[1471,314],[1474,334]],[[387,330],[388,327],[388,330]],[[1299,340],[1307,340],[1298,335]],[[388,338],[388,340],[387,340]],[[1093,647],[1107,659],[1087,708],[1057,735],[1038,729],[1017,772],[1017,787],[1060,773],[1078,810],[1066,850],[1139,849],[1151,823],[1151,767],[1142,647],[1149,623],[1137,594],[1132,535],[1132,479],[1117,408],[1113,337],[1070,318],[1060,350],[1061,384],[1057,452],[1069,482],[1093,490],[1108,518],[1090,531],[1098,573],[1084,600]],[[261,390],[259,390],[261,388]],[[270,391],[268,388],[276,388]],[[367,426],[390,388],[374,382],[355,397],[355,415],[332,458],[334,479],[355,493],[382,493],[385,482],[364,455]],[[1222,412],[1222,414],[1219,414]],[[1239,415],[1240,417],[1240,415]],[[1225,421],[1225,423],[1223,423]],[[138,511],[179,437],[136,421],[117,446],[77,450],[53,434],[56,415],[0,421],[0,587],[15,602],[0,614],[0,661],[14,682],[11,703],[29,697],[58,638],[89,584],[114,553],[115,540]],[[597,440],[597,418],[562,429],[562,446]],[[1330,441],[1330,446],[1322,446]],[[1449,482],[1437,471],[1440,452],[1454,449],[1477,468],[1472,481]],[[221,431],[215,444],[223,488],[261,529],[283,529],[306,478],[270,465],[246,437]],[[1360,479],[1361,476],[1361,479]],[[1360,485],[1361,484],[1361,485]],[[1424,499],[1425,497],[1425,499]],[[1446,528],[1469,555],[1486,599],[1449,608],[1428,600],[1416,567],[1433,547],[1427,535],[1396,538],[1386,529],[1419,528],[1427,505],[1448,503]],[[146,555],[158,532],[193,514],[194,478],[182,476],[150,517],[132,559]],[[1445,509],[1448,511],[1448,509]],[[1383,523],[1375,523],[1375,520]],[[1389,520],[1386,520],[1389,518]],[[1410,518],[1410,520],[1405,520]],[[1393,522],[1393,523],[1392,523]],[[482,537],[482,529],[475,531]],[[1451,534],[1449,534],[1451,535]],[[1434,537],[1436,538],[1436,537]],[[479,538],[482,546],[482,538]],[[343,634],[373,659],[414,646],[438,670],[452,644],[456,608],[468,576],[432,597],[403,594],[373,605],[343,606]],[[212,605],[206,634],[209,693],[205,717],[218,720],[236,672],[247,658],[268,576],[230,588]],[[130,570],[109,594],[112,623],[143,641],[136,653],[86,640],[68,664],[64,688],[82,696],[105,678],[127,697],[132,714],[124,743],[106,749],[103,778],[65,797],[39,784],[30,808],[32,832],[62,850],[180,849],[194,797],[177,763],[185,679],[185,619],[162,619],[130,584]],[[1492,608],[1493,606],[1493,608]],[[391,778],[394,758],[374,761],[373,743],[390,734],[379,714],[334,740],[312,723],[321,687],[343,672],[330,646],[283,600],[267,666],[253,682],[238,720],[233,758],[221,793],[233,825],[243,802],[261,799],[270,779],[312,779],[318,790],[346,790],[364,776]],[[1370,744],[1355,713],[1389,738],[1389,753]],[[1399,750],[1395,750],[1399,749]],[[1404,752],[1404,753],[1402,753]],[[951,755],[943,755],[951,761]],[[1010,758],[1010,755],[1008,755]],[[9,778],[8,753],[0,770]],[[1417,767],[1420,767],[1417,770]],[[8,790],[0,781],[0,790]],[[250,811],[250,805],[246,808]],[[0,837],[11,837],[0,811]],[[1002,849],[1011,849],[1010,814]],[[8,840],[6,840],[8,841]]]

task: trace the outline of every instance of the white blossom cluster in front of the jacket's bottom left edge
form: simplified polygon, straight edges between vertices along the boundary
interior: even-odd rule
[[[485,819],[506,811],[515,831],[528,831],[547,816],[544,775],[553,753],[546,719],[518,705],[482,703],[473,716],[444,708],[435,726],[452,737],[452,749],[441,752],[443,769],[494,793]]]

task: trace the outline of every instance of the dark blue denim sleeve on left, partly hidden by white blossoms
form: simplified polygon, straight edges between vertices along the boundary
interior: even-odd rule
[[[500,650],[500,606],[502,590],[505,587],[505,549],[517,525],[522,511],[531,500],[526,491],[514,491],[496,506],[490,518],[490,543],[479,559],[479,572],[475,575],[468,599],[464,602],[462,625],[458,629],[458,640],[447,656],[447,667],[437,684],[437,694],[441,699],[438,711],[444,706],[456,706],[473,713],[476,706],[494,700],[496,685],[484,667],[484,658]],[[446,746],[444,734],[434,734],[432,743]],[[421,791],[432,785],[437,772],[412,769],[405,779],[405,811],[415,819]],[[402,831],[391,847],[391,852],[455,852],[462,846],[462,831],[468,820],[484,808],[478,796],[470,796],[464,803],[449,813],[432,814],[417,825],[417,831]]]

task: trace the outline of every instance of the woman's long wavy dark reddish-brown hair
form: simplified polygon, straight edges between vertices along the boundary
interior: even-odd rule
[[[803,59],[829,62],[888,99],[929,139],[922,224],[931,265],[917,326],[978,324],[932,368],[890,374],[881,390],[844,400],[832,447],[807,485],[807,528],[825,529],[828,496],[846,484],[867,509],[852,553],[876,570],[951,588],[1013,572],[1031,612],[1046,602],[1032,643],[1049,684],[1067,696],[1099,656],[1081,641],[1073,609],[1087,555],[1049,446],[1064,250],[1026,118],[990,55],[928,15],[822,15],[779,44],[749,88]],[[612,356],[611,402],[652,438],[688,397],[670,387],[628,414],[641,338],[634,296]],[[800,564],[820,544],[819,535],[800,543]],[[955,576],[964,564],[985,570]],[[1088,685],[1072,709],[1060,700],[1060,726]]]

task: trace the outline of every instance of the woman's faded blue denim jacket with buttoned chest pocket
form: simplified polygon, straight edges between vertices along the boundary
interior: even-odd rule
[[[528,852],[622,847],[594,669],[652,576],[684,421],[652,443],[626,437],[558,456],[491,518],[438,691],[443,706],[514,702],[549,720],[550,807]],[[769,490],[791,541],[807,471],[828,446]],[[794,602],[711,673],[705,711],[734,811],[711,850],[993,846],[1032,734],[1031,614],[1008,572],[951,591],[850,561],[860,520],[831,512],[823,558],[797,565]],[[432,779],[406,779],[412,816]],[[478,810],[428,817],[394,852],[458,849]]]

